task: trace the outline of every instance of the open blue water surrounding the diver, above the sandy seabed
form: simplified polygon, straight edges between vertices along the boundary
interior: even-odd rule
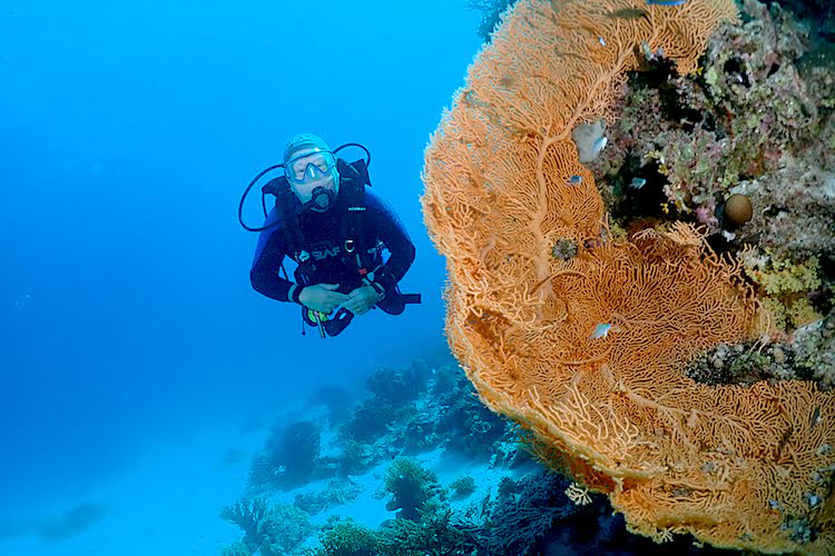
[[[0,523],[178,435],[444,349],[420,172],[480,46],[463,4],[0,3]],[[237,202],[302,131],[371,149],[423,305],[322,340],[250,289]]]

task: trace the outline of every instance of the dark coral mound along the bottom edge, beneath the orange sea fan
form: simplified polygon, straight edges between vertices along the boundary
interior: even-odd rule
[[[621,554],[657,552],[654,543],[629,535],[605,497],[579,505],[567,494],[568,479],[534,471],[505,477],[495,496],[455,510],[440,498],[428,500],[420,517],[392,519],[372,529],[332,518],[308,556],[449,556],[453,554]],[[670,554],[721,554],[695,547],[686,536],[669,535]]]

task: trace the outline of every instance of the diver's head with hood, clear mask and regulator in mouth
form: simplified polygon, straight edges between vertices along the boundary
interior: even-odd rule
[[[324,212],[340,192],[336,157],[327,143],[313,133],[301,133],[284,148],[284,175],[302,206]]]

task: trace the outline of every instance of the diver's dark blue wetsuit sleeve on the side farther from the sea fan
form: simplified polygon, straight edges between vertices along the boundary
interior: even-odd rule
[[[273,212],[266,224],[276,220]],[[249,281],[255,291],[278,301],[298,302],[301,287],[281,276],[281,267],[287,255],[287,246],[281,226],[261,232],[258,246],[255,248],[253,266],[249,270]],[[295,286],[295,287],[294,287]],[[293,299],[291,299],[293,295]]]

